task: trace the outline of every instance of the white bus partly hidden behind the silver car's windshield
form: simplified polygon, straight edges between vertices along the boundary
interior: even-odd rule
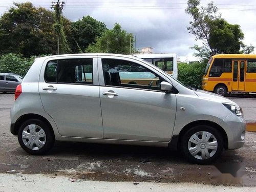
[[[140,54],[134,56],[151,62],[161,70],[173,76],[174,78],[178,78],[177,54]]]

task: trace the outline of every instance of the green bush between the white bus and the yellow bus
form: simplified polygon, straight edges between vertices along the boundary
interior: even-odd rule
[[[185,86],[201,89],[205,67],[206,63],[203,62],[178,63],[178,80]]]

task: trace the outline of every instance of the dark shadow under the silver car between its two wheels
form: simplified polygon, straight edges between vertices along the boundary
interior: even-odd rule
[[[62,142],[55,143],[52,150],[48,153],[50,156],[79,156],[93,159],[151,159],[163,160],[168,159],[173,163],[186,163],[186,160],[178,151],[170,151],[165,147],[149,147],[135,145],[115,145],[115,144],[98,144],[98,143],[78,143]]]

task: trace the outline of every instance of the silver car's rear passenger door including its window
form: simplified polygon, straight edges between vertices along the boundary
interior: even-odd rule
[[[97,70],[96,56],[60,57],[43,65],[39,93],[60,135],[103,137]]]

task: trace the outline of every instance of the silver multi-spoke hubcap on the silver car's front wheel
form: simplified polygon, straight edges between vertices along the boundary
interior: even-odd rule
[[[218,142],[214,135],[209,132],[197,132],[188,140],[188,151],[196,159],[209,159],[216,153]]]

